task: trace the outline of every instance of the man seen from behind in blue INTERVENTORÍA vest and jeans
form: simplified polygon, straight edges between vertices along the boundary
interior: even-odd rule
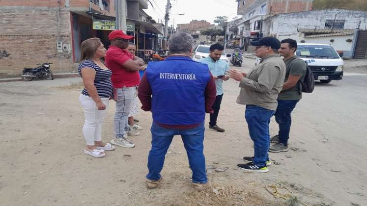
[[[184,143],[193,171],[193,187],[200,190],[208,181],[203,154],[204,119],[205,112],[213,112],[216,87],[208,66],[190,58],[193,43],[189,33],[171,35],[170,56],[164,61],[149,62],[141,78],[141,108],[153,116],[146,175],[150,189],[161,180],[160,172],[174,135],[181,135]]]

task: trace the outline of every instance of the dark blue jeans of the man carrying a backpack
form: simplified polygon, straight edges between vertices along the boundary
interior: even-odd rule
[[[285,146],[288,145],[290,125],[292,123],[290,113],[292,113],[298,101],[299,100],[278,100],[275,121],[279,125],[279,142]]]

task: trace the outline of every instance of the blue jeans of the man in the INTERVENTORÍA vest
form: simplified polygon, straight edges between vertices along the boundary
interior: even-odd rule
[[[153,122],[150,129],[152,133],[152,149],[148,156],[148,170],[146,175],[148,180],[161,179],[161,171],[165,162],[165,156],[174,135],[181,135],[190,168],[193,171],[195,183],[206,183],[204,150],[204,123],[193,129],[171,129],[161,127]]]

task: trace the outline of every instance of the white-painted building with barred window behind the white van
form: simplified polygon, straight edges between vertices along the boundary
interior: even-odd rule
[[[329,44],[346,58],[353,57],[355,29],[367,29],[367,11],[313,10],[278,14],[263,20],[266,36]]]

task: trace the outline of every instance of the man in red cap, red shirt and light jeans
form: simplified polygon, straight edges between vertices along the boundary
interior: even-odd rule
[[[134,62],[132,55],[126,50],[129,40],[134,36],[126,35],[121,30],[114,30],[108,36],[111,46],[106,53],[106,66],[112,71],[111,80],[117,96],[116,112],[114,116],[114,136],[111,144],[124,148],[135,147],[127,135],[139,135],[135,129],[129,127],[128,115],[134,94],[139,85],[140,76],[138,63]],[[116,100],[116,97],[114,97]]]

